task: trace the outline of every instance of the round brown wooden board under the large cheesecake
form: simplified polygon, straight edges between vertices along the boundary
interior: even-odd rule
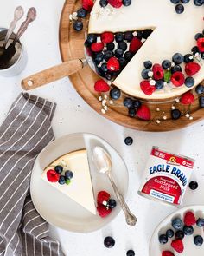
[[[67,0],[64,4],[61,13],[61,24],[60,24],[60,49],[61,58],[63,62],[73,60],[76,58],[84,57],[84,42],[85,42],[85,31],[88,24],[88,17],[83,20],[84,29],[80,32],[73,30],[73,25],[69,21],[69,15],[73,11],[78,10],[81,7],[81,2],[78,0]],[[199,99],[196,94],[196,101],[190,107],[190,115],[193,116],[193,120],[189,120],[185,114],[188,113],[189,108],[183,107],[179,103],[175,103],[176,108],[180,108],[183,112],[183,116],[179,120],[172,120],[170,111],[172,104],[175,102],[144,102],[148,105],[151,110],[151,120],[143,121],[138,118],[131,118],[128,116],[127,108],[123,106],[124,95],[120,100],[114,102],[113,105],[108,106],[108,111],[105,114],[101,112],[101,102],[99,102],[99,94],[94,91],[94,83],[99,79],[99,76],[94,74],[92,69],[86,66],[80,72],[71,75],[71,82],[73,87],[80,94],[80,96],[100,115],[114,121],[124,127],[133,128],[143,131],[151,132],[162,132],[184,128],[195,121],[200,121],[204,117],[204,108],[199,107]],[[160,111],[156,111],[156,108],[160,108]],[[158,110],[158,109],[157,109]],[[163,116],[167,117],[167,120],[163,120]],[[160,120],[157,123],[156,120]]]

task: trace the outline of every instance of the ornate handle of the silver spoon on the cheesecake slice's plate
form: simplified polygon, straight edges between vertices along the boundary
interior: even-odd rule
[[[118,187],[116,186],[115,182],[112,179],[112,175],[110,173],[108,173],[107,175],[108,175],[110,182],[112,183],[113,190],[117,196],[120,206],[122,207],[122,210],[124,211],[127,224],[130,226],[135,226],[136,222],[137,222],[136,216],[133,213],[131,213],[131,210],[129,209],[128,205],[126,204],[123,195],[119,193]]]

